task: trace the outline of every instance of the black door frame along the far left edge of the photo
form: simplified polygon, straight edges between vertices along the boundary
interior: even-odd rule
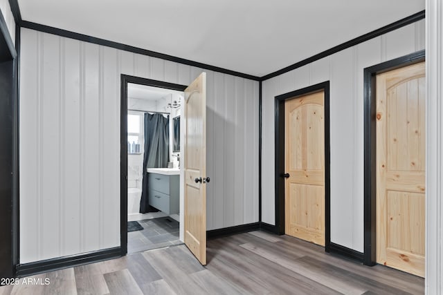
[[[0,10],[0,225],[9,233],[0,240],[0,277],[15,278],[19,264],[19,48],[20,30],[12,42]]]

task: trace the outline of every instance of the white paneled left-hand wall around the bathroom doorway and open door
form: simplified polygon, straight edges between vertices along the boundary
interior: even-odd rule
[[[21,29],[20,263],[120,245],[120,74],[200,68]],[[206,71],[208,229],[258,221],[258,82]]]

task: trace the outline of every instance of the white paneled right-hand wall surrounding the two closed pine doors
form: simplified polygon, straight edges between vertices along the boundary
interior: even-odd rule
[[[262,84],[262,221],[275,225],[274,100],[330,81],[331,241],[363,251],[363,69],[424,49],[424,20]]]

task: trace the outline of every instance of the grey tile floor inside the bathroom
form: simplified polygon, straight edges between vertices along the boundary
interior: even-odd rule
[[[179,245],[179,222],[170,217],[139,220],[141,231],[127,233],[127,253]]]

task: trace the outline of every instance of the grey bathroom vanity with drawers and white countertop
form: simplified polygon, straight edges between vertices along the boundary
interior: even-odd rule
[[[180,170],[177,168],[148,168],[147,181],[150,205],[167,214],[179,213]]]

